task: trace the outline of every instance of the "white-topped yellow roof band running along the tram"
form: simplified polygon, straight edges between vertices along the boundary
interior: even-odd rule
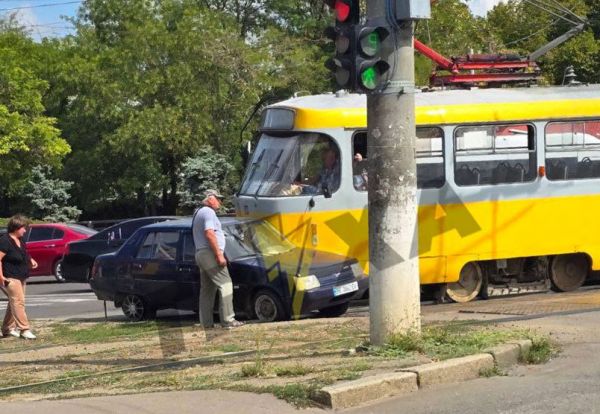
[[[600,85],[444,90],[415,94],[419,125],[600,116]],[[272,105],[296,111],[297,129],[365,127],[366,96],[302,96]]]

